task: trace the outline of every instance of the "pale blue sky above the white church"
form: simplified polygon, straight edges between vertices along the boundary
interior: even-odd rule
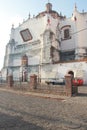
[[[0,0],[0,69],[3,67],[5,47],[9,42],[12,24],[17,27],[27,19],[45,10],[47,2],[52,3],[53,10],[66,17],[71,17],[75,3],[80,12],[87,12],[87,0]]]

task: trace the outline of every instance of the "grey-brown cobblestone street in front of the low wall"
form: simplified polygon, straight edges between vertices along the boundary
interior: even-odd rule
[[[87,130],[87,95],[63,99],[0,89],[0,130]]]

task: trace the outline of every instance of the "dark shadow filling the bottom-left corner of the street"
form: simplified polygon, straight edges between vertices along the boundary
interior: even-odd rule
[[[19,116],[0,113],[0,130],[44,130],[35,124],[26,122]]]

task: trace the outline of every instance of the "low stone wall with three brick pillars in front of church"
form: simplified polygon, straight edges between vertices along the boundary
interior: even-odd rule
[[[53,93],[58,95],[73,96],[78,94],[78,87],[72,86],[72,76],[65,76],[65,85],[52,85],[46,83],[38,83],[37,76],[32,75],[30,82],[14,82],[13,77],[8,77],[6,86],[11,87],[15,90],[34,91],[41,93]]]

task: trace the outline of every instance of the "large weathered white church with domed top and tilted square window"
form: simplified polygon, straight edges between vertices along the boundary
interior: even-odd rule
[[[64,78],[72,72],[87,84],[87,12],[76,5],[66,18],[52,9],[28,17],[17,28],[12,25],[6,45],[2,77],[12,74],[14,80],[29,81],[37,75],[41,82]]]

